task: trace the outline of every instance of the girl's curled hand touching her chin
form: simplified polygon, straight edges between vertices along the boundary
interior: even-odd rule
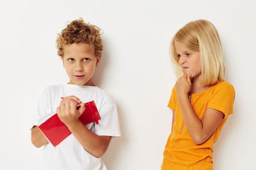
[[[191,89],[191,74],[184,73],[175,83],[175,90],[178,96],[187,96]]]

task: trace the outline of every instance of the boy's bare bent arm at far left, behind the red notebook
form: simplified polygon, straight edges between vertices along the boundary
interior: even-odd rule
[[[47,144],[48,140],[45,138],[40,129],[37,126],[34,126],[31,129],[31,142],[36,146],[36,148],[40,148]]]

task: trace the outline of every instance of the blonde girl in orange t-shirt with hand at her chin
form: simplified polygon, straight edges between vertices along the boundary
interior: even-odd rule
[[[234,87],[224,80],[220,37],[211,22],[196,20],[175,34],[170,50],[180,78],[168,103],[172,132],[161,169],[212,169],[212,145],[235,98]]]

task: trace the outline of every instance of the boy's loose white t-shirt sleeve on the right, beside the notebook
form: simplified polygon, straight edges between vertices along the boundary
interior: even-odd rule
[[[92,131],[99,136],[121,136],[116,103],[113,97],[107,95],[99,109],[99,124],[94,124]]]

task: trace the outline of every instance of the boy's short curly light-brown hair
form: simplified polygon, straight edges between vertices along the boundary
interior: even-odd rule
[[[58,48],[58,55],[63,57],[65,45],[72,43],[88,43],[95,48],[95,56],[102,56],[102,39],[100,38],[100,28],[95,25],[84,23],[83,18],[73,20],[67,25],[60,34],[58,34],[56,46]]]

